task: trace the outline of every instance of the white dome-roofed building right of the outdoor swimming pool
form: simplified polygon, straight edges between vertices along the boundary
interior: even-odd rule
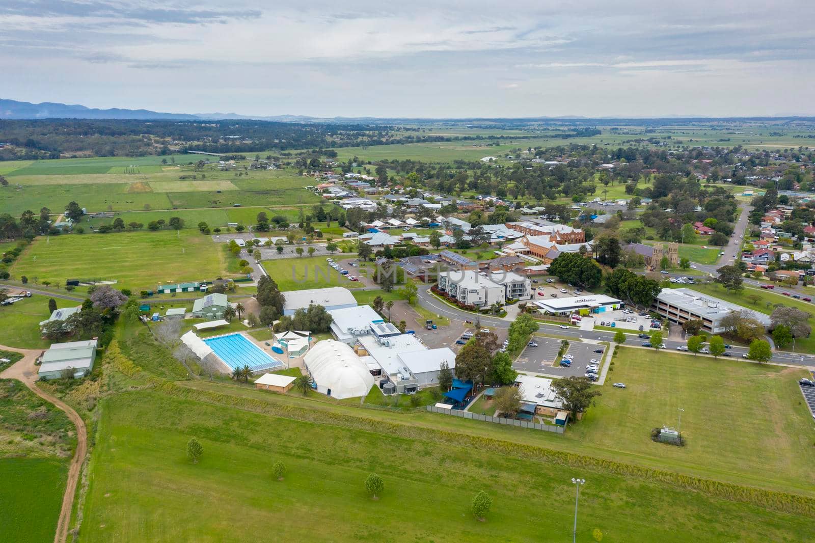
[[[373,376],[353,349],[343,342],[318,342],[304,359],[317,391],[337,400],[368,394]]]

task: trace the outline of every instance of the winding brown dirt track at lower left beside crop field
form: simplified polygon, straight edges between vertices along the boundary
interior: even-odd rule
[[[0,349],[5,351],[14,351],[19,352],[23,355],[23,358],[18,360],[15,364],[11,365],[11,367],[7,368],[5,371],[0,373],[0,378],[2,379],[17,379],[20,382],[23,382],[25,386],[29,387],[29,390],[32,391],[34,394],[38,395],[46,402],[54,404],[56,407],[62,409],[68,418],[73,422],[73,425],[77,427],[77,450],[73,453],[73,458],[71,459],[71,465],[68,466],[68,481],[65,484],[65,493],[62,497],[62,507],[59,510],[59,520],[57,521],[56,525],[56,533],[54,535],[54,543],[64,543],[68,539],[68,523],[71,521],[71,510],[73,510],[73,497],[77,493],[77,483],[79,482],[79,474],[82,467],[82,462],[85,461],[85,456],[87,454],[87,443],[88,443],[88,430],[85,426],[85,421],[82,420],[82,417],[73,410],[68,404],[65,404],[62,400],[55,398],[54,396],[47,394],[46,392],[40,390],[37,386],[37,366],[34,365],[34,361],[37,360],[37,356],[40,355],[42,349],[34,349],[34,350],[25,350],[25,349],[16,349],[15,347],[5,347],[0,345]]]

